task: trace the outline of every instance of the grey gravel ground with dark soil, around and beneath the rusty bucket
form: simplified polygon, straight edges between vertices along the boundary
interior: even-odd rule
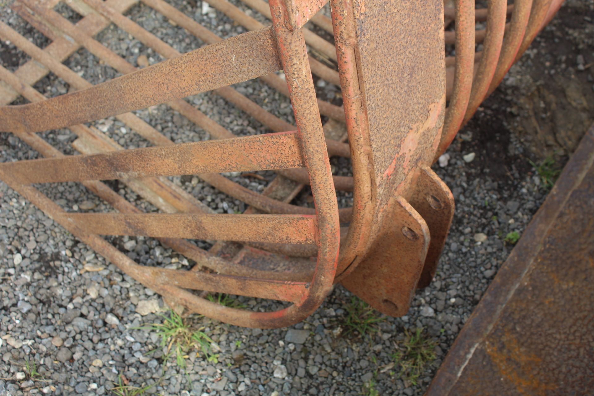
[[[223,37],[244,31],[219,12],[210,10],[203,15],[200,4],[191,8],[191,2],[174,3]],[[539,129],[538,122],[536,128],[526,122],[530,119],[528,110],[534,109],[530,103],[538,102],[543,90],[554,93],[555,89],[567,86],[567,81],[577,79],[580,82],[577,97],[582,95],[580,98],[586,104],[582,106],[581,99],[572,102],[571,98],[576,96],[565,90],[566,99],[558,96],[555,109],[563,107],[567,118],[574,110],[584,124],[594,117],[590,67],[594,61],[594,34],[592,19],[588,19],[594,17],[594,5],[592,1],[567,3],[560,19],[545,28],[529,53],[511,69],[502,87],[460,133],[447,153],[447,164],[444,161],[443,167],[435,167],[456,198],[454,223],[438,273],[431,286],[416,293],[408,315],[382,317],[377,332],[369,338],[340,334],[346,328],[346,308],[352,296],[337,286],[314,315],[289,329],[251,330],[192,317],[189,320],[203,327],[212,338],[217,360],[207,360],[202,354],[192,352],[185,370],[175,360],[163,363],[163,348],[157,334],[137,329],[143,324],[162,322],[157,316],[166,311],[162,298],[122,275],[114,265],[0,182],[0,395],[112,394],[120,375],[129,379],[129,385],[154,384],[146,394],[372,395],[369,387],[364,387],[370,383],[380,395],[423,394],[460,328],[513,248],[504,241],[505,236],[514,231],[521,235],[544,201],[548,190],[529,159],[540,163],[555,153],[554,167],[560,167],[571,153],[572,144],[574,147],[579,134],[585,131],[585,128],[580,130],[581,123],[576,123],[567,132],[567,142],[539,140],[534,132]],[[80,18],[64,5],[57,9],[71,21]],[[36,45],[44,47],[49,43],[7,7],[0,14],[2,21]],[[201,45],[148,7],[137,5],[128,16],[182,52]],[[151,64],[162,60],[113,26],[97,38],[133,64],[140,55],[146,55]],[[551,46],[565,47],[570,55],[546,50]],[[13,71],[29,59],[9,43],[2,43],[1,51],[2,65]],[[84,49],[71,56],[65,65],[92,83],[118,75]],[[68,84],[54,75],[43,78],[35,87],[48,97],[68,91]],[[323,83],[317,87],[320,96],[340,104],[336,102],[340,100],[336,87]],[[238,84],[238,90],[275,115],[293,121],[288,100],[266,85],[252,81]],[[189,101],[236,134],[266,131],[258,122],[246,121],[239,110],[214,94],[198,95]],[[560,105],[567,102],[571,106]],[[26,102],[18,99],[14,103]],[[550,100],[542,103],[541,107],[545,108]],[[558,119],[555,109],[543,110],[539,122],[546,122],[547,117]],[[206,132],[166,106],[140,110],[137,115],[176,142],[209,138]],[[114,119],[96,125],[127,148],[147,145],[147,141]],[[74,153],[69,145],[75,138],[71,132],[49,131],[41,135],[65,153]],[[0,135],[0,150],[2,161],[38,156],[7,134]],[[350,172],[345,161],[335,160],[333,165],[337,173]],[[260,175],[264,180],[241,175],[228,177],[261,191],[273,174],[260,172]],[[241,202],[197,178],[173,180],[218,213],[245,208]],[[124,185],[112,183],[112,186],[144,210],[155,210]],[[39,188],[65,210],[109,210],[105,202],[75,183]],[[299,195],[296,203],[308,204],[307,196],[307,192]],[[342,206],[349,205],[352,196],[340,194],[339,201]],[[168,268],[188,265],[187,260],[154,239],[111,240],[141,264]],[[207,247],[208,243],[199,245]],[[238,301],[252,309],[277,306],[244,297]],[[435,360],[429,362],[414,384],[399,378],[399,367],[391,365],[393,354],[405,343],[405,330],[418,328],[424,328],[425,337],[435,340],[437,345]],[[153,353],[148,354],[149,351]],[[40,374],[36,378],[30,375],[33,364]],[[40,378],[43,381],[37,381]]]

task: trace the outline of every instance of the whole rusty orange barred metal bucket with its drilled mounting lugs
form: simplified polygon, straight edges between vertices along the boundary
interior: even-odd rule
[[[1,104],[19,95],[31,102],[0,107],[0,131],[47,158],[4,162],[0,179],[122,271],[189,311],[241,326],[284,327],[314,312],[340,282],[381,312],[405,314],[415,289],[435,274],[454,211],[431,164],[562,1],[507,6],[490,0],[486,9],[475,9],[469,0],[447,0],[445,8],[442,0],[331,0],[330,19],[320,11],[322,0],[242,0],[272,21],[267,27],[226,0],[206,1],[248,32],[222,40],[165,1],[142,0],[206,43],[185,54],[123,15],[135,0],[70,0],[68,7],[84,16],[76,24],[53,10],[56,0],[15,2],[12,9],[52,43],[40,49],[0,23],[0,39],[33,58],[14,73],[0,66]],[[312,30],[332,34],[334,43],[304,27],[308,21]],[[476,21],[486,29],[475,31]],[[455,30],[444,32],[453,22]],[[169,60],[140,70],[129,64],[93,39],[112,23]],[[476,43],[481,52],[475,53]],[[446,45],[455,45],[455,57],[445,56]],[[330,62],[308,55],[308,46]],[[122,77],[92,86],[64,66],[80,47]],[[46,99],[31,85],[49,71],[78,91]],[[312,73],[342,88],[342,107],[317,99]],[[296,126],[229,86],[257,77],[290,98]],[[181,99],[209,90],[273,133],[235,137]],[[215,140],[173,144],[130,113],[159,103]],[[320,115],[328,119],[324,125]],[[83,125],[109,116],[154,147],[124,150]],[[72,147],[83,155],[65,156],[36,135],[65,127],[78,136]],[[328,156],[350,158],[353,176],[333,176]],[[254,170],[277,173],[263,194],[220,175]],[[249,208],[213,214],[166,178],[174,175],[197,175]],[[143,213],[99,181],[112,179],[163,213]],[[83,183],[116,212],[66,212],[32,186],[58,182]],[[289,203],[304,185],[311,186],[315,210]],[[339,209],[335,189],[353,192],[352,208]],[[188,271],[138,265],[100,235],[156,237],[197,264]],[[219,242],[206,251],[188,239]],[[247,311],[195,290],[291,304]]]

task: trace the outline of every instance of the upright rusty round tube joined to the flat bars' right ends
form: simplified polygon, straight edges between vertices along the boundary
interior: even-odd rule
[[[339,254],[340,224],[305,38],[302,28],[289,30],[283,23],[283,10],[286,8],[282,1],[271,0],[270,12],[317,214],[318,261],[308,297],[301,305],[304,312],[311,313],[321,304],[333,284]]]

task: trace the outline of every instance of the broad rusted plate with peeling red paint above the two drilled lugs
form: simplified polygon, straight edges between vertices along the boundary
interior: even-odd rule
[[[391,7],[355,0],[352,7],[377,199],[385,205],[394,194],[404,196],[415,167],[431,163],[440,141],[445,110],[443,0]],[[419,52],[423,56],[412,55]]]

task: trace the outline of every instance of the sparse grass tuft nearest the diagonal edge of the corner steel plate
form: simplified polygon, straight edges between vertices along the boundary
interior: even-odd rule
[[[399,377],[417,384],[425,369],[435,360],[437,341],[424,334],[423,328],[414,332],[405,330],[406,339],[402,347],[392,354],[394,364],[400,367]]]

